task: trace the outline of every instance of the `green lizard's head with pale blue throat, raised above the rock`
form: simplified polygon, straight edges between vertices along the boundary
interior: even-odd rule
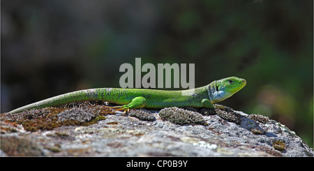
[[[246,85],[246,80],[239,77],[226,77],[209,84],[209,99],[217,103],[229,98]]]

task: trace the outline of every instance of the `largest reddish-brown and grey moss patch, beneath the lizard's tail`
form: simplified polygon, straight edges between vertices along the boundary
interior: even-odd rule
[[[1,114],[1,121],[20,124],[26,131],[34,132],[38,130],[52,130],[59,126],[88,126],[104,120],[105,114],[114,114],[112,110],[102,105],[88,102],[71,105],[66,107],[45,107],[17,114],[3,113]]]

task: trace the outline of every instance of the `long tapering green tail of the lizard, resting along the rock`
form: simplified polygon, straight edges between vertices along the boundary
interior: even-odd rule
[[[52,98],[47,98],[43,101],[38,101],[36,103],[31,103],[23,107],[19,107],[9,113],[19,113],[24,110],[40,109],[43,107],[52,107],[58,105],[64,105],[66,103],[80,102],[80,101],[114,101],[112,97],[106,96],[110,88],[100,88],[100,89],[85,89],[80,91],[73,91],[67,94],[61,94],[59,96],[54,96]]]

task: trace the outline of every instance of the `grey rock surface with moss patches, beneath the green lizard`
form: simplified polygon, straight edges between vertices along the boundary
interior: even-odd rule
[[[313,156],[287,127],[227,107],[131,110],[76,103],[1,114],[1,156]]]

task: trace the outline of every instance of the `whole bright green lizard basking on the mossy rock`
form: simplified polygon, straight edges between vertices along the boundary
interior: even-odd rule
[[[124,110],[124,112],[128,112],[130,109],[143,107],[154,109],[174,106],[214,108],[214,103],[229,98],[245,85],[246,80],[244,79],[239,77],[227,77],[211,82],[204,87],[181,91],[121,88],[85,89],[31,103],[12,110],[10,113],[80,101],[107,101],[119,105],[110,108],[113,108],[114,110]],[[190,93],[189,96],[184,96],[184,94],[188,93]]]

